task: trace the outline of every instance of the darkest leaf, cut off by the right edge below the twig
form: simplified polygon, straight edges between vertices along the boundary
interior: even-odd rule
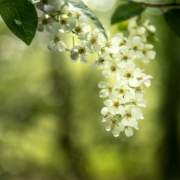
[[[170,9],[164,13],[169,28],[180,38],[180,9]]]

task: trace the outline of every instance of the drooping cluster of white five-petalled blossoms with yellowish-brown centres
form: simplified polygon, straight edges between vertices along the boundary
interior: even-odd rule
[[[72,61],[80,58],[83,64],[88,62],[87,53],[97,53],[92,68],[97,66],[105,78],[114,74],[114,84],[105,81],[98,84],[100,97],[107,98],[101,110],[102,122],[115,137],[121,131],[125,131],[128,137],[132,136],[133,128],[138,129],[138,120],[143,119],[140,107],[146,106],[143,87],[149,87],[152,78],[136,67],[135,61],[148,63],[155,58],[153,45],[146,43],[146,33],[154,33],[155,27],[149,25],[148,20],[139,27],[136,19],[132,19],[128,37],[118,33],[107,40],[99,29],[91,31],[86,17],[63,0],[32,0],[32,3],[46,12],[39,18],[38,30],[53,34],[48,44],[50,50],[68,51]],[[63,34],[69,33],[73,37],[72,48],[67,48],[62,41]],[[75,37],[79,39],[79,45],[75,45]]]

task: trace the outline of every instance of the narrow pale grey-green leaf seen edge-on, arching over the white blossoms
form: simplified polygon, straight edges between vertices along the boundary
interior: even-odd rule
[[[93,13],[93,11],[84,4],[84,2],[82,2],[81,0],[66,0],[66,2],[70,3],[72,6],[79,9],[85,16],[87,16],[96,25],[96,27],[104,34],[104,36],[107,39],[107,35],[102,23]]]

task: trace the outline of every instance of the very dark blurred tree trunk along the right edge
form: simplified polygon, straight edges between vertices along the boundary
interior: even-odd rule
[[[167,36],[167,34],[166,34]],[[172,34],[167,37],[165,59],[162,61],[164,102],[161,111],[161,125],[164,136],[160,145],[162,180],[180,179],[180,39]]]

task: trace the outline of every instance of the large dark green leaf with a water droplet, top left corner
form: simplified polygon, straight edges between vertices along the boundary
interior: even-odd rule
[[[38,23],[35,7],[27,0],[0,0],[0,12],[7,27],[30,45]]]

